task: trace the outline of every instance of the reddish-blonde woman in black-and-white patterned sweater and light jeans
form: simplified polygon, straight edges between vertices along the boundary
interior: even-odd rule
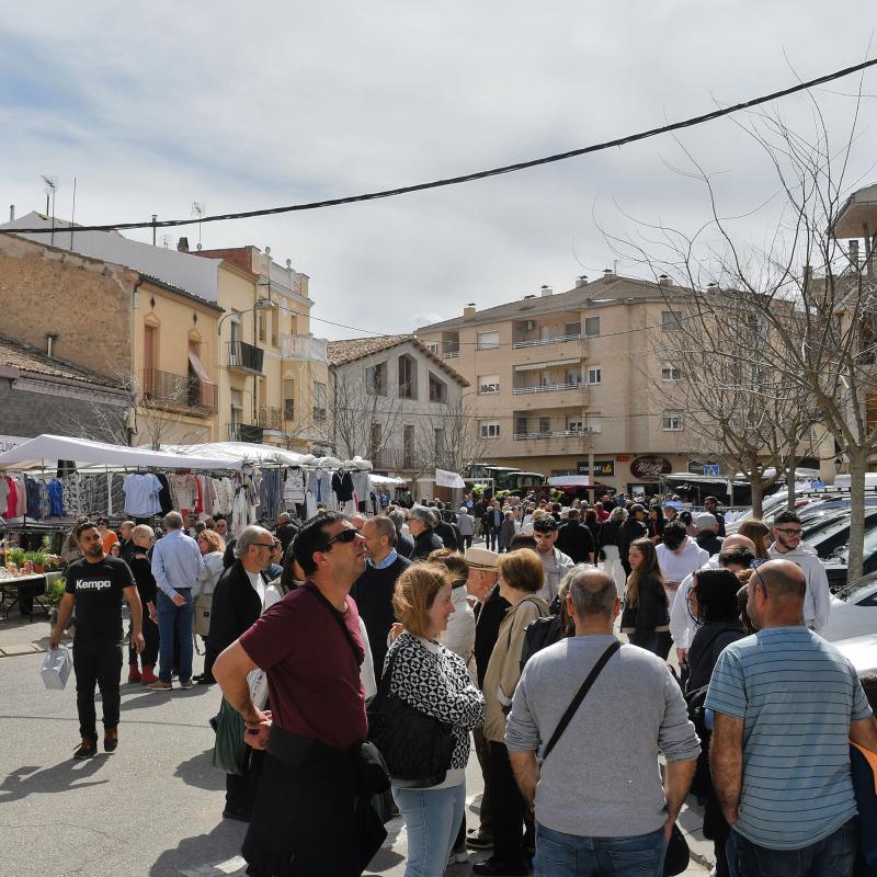
[[[441,877],[466,806],[469,731],[485,720],[485,699],[464,660],[438,639],[454,612],[452,576],[444,566],[415,563],[396,581],[392,608],[402,631],[387,651],[389,690],[409,706],[453,726],[454,749],[444,778],[411,788],[391,777],[392,797],[408,831],[406,877]],[[424,765],[424,776],[426,775]]]

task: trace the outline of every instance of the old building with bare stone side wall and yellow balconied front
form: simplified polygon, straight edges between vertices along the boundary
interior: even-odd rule
[[[95,429],[105,400],[80,396],[79,413],[61,417],[59,407],[52,431],[152,445],[212,440],[215,303],[121,264],[3,235],[0,308],[7,337],[103,376],[127,399],[127,415]]]

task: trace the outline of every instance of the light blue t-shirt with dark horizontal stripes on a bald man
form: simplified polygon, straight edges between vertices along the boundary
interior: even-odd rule
[[[806,627],[774,627],[722,651],[706,706],[743,719],[743,787],[734,830],[798,850],[856,815],[850,721],[872,710],[853,665]]]

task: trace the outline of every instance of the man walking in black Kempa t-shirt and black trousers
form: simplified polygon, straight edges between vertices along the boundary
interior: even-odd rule
[[[70,614],[76,607],[73,671],[76,706],[82,743],[75,759],[98,753],[94,713],[94,684],[103,701],[103,748],[113,752],[118,744],[119,676],[122,672],[122,597],[128,601],[132,618],[132,646],[144,650],[143,606],[128,565],[107,557],[96,525],[86,521],[76,528],[84,557],[67,568],[67,588],[58,608],[58,620],[49,638],[57,649]]]

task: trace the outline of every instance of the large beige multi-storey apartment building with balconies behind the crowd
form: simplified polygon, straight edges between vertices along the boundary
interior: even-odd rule
[[[572,289],[478,310],[415,330],[475,394],[483,462],[553,475],[588,475],[619,490],[652,492],[663,472],[687,470],[692,436],[665,410],[654,379],[680,379],[649,333],[683,330],[685,293],[604,272]],[[679,303],[679,309],[674,309]]]

